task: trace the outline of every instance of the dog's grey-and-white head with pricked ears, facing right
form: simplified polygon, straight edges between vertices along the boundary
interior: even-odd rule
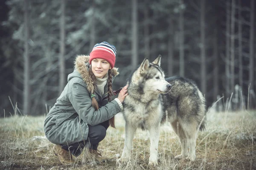
[[[160,63],[161,55],[153,62],[149,62],[145,58],[140,67],[134,72],[132,81],[137,82],[136,84],[142,91],[168,93],[172,86],[164,79],[165,75],[160,67]]]

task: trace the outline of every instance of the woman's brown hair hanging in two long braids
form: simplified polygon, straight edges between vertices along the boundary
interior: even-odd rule
[[[91,79],[93,80],[93,93],[95,93],[95,90],[96,90],[96,83],[95,83],[95,80],[96,80],[96,77],[95,75],[93,74],[93,71],[92,71],[92,68],[90,67],[89,68],[89,75],[91,77]],[[111,96],[113,94],[113,90],[112,90],[112,74],[111,74],[111,69],[108,70],[108,102],[111,102]],[[95,110],[97,111],[99,109],[99,104],[98,102],[96,101],[95,97],[93,96],[92,97],[92,105],[93,107],[95,108]],[[111,127],[115,127],[115,116],[113,116],[111,119],[109,119],[109,124]]]

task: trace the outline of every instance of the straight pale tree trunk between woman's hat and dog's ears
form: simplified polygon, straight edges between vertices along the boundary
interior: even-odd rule
[[[132,0],[132,68],[138,65],[138,4]]]

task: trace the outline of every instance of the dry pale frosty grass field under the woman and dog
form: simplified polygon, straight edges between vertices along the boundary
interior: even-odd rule
[[[181,147],[172,127],[161,127],[158,166],[149,167],[149,134],[137,130],[131,162],[116,159],[124,146],[125,122],[116,115],[116,129],[109,128],[99,150],[107,161],[61,165],[44,136],[44,116],[10,116],[0,119],[0,170],[256,170],[256,111],[207,113],[206,130],[198,133],[195,162],[174,157]]]

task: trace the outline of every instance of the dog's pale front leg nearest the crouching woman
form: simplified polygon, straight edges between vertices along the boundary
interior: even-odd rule
[[[130,159],[132,141],[134,138],[135,128],[128,123],[125,123],[125,146],[122,152],[121,161],[127,162]]]

